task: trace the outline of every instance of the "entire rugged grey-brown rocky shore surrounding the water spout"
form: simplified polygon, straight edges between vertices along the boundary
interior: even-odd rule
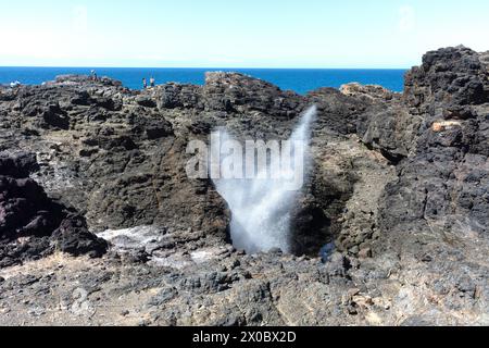
[[[0,323],[488,324],[488,67],[464,47],[428,52],[403,94],[299,96],[233,73],[2,87]],[[185,173],[188,142],[221,126],[285,139],[311,104],[294,254],[235,250],[226,202]]]

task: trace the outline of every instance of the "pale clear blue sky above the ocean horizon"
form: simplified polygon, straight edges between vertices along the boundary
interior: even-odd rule
[[[410,67],[487,0],[0,0],[0,66]]]

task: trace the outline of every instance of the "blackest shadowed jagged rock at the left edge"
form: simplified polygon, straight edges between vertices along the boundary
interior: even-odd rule
[[[0,152],[0,268],[54,251],[100,257],[106,241],[88,231],[83,216],[48,198],[28,175],[35,157]]]

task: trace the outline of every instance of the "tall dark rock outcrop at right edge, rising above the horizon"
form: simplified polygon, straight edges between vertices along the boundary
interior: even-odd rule
[[[459,47],[429,52],[406,77],[404,98],[423,125],[381,204],[386,231],[468,228],[488,236],[487,71]],[[480,141],[485,144],[481,146]]]

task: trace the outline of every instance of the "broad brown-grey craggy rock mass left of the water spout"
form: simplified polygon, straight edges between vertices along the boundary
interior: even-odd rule
[[[190,127],[176,136],[173,114],[148,100],[155,99],[82,76],[22,87],[9,97],[2,145],[37,153],[35,178],[83,212],[92,231],[160,224],[176,239],[188,235],[184,241],[225,240],[225,203],[209,183],[186,177]]]

